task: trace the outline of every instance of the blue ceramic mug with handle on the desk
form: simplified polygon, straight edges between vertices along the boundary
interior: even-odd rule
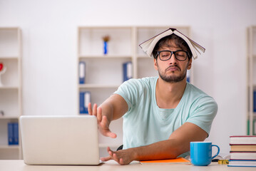
[[[212,147],[217,147],[217,154],[212,156]],[[220,147],[212,142],[190,142],[190,160],[193,165],[206,166],[220,153]]]

